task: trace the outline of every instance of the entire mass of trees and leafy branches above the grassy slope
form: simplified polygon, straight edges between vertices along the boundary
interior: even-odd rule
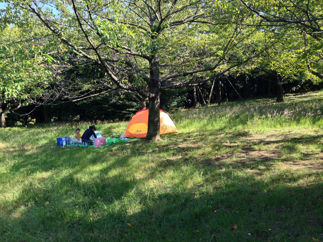
[[[316,1],[4,1],[1,126],[128,120],[323,87]]]

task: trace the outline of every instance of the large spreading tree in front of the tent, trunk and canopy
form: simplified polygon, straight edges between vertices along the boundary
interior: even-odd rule
[[[148,98],[147,140],[160,139],[161,90],[199,85],[251,58],[244,56],[239,62],[227,58],[239,41],[241,24],[230,24],[223,18],[244,19],[241,14],[227,14],[230,3],[203,0],[11,3],[37,16],[66,46],[65,52],[101,66],[106,77],[120,89]],[[214,36],[218,36],[216,41]],[[133,75],[137,76],[134,82],[129,80]]]

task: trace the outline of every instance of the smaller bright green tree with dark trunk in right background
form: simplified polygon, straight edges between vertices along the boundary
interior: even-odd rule
[[[278,35],[267,29],[259,29],[253,37],[252,44],[256,48],[265,48],[266,50],[254,62],[239,67],[236,76],[266,76],[268,93],[271,92],[272,86],[276,86],[276,101],[282,102],[284,100],[283,84],[296,79],[305,79],[306,65],[300,60],[303,49],[299,44],[302,40],[293,35]],[[244,44],[250,45],[250,40],[251,38]]]

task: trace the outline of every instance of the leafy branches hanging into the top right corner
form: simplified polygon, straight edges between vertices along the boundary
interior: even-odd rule
[[[304,39],[303,54],[310,74],[323,79],[323,2],[322,1],[243,1],[239,2],[260,17],[254,26],[266,27],[274,33]],[[295,38],[294,38],[295,39]],[[310,77],[310,76],[309,76]],[[313,77],[311,77],[313,78]]]

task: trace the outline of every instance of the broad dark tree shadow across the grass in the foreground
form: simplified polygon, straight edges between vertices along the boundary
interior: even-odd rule
[[[103,171],[102,171],[103,172]],[[127,175],[90,183],[62,178],[52,190],[23,191],[35,200],[1,218],[8,241],[309,241],[323,232],[323,184],[289,187],[302,176],[255,180],[230,171],[212,191],[149,193]],[[307,177],[315,178],[316,173]],[[207,177],[212,179],[212,177]],[[211,185],[211,183],[209,183]],[[62,187],[67,187],[62,191]],[[30,195],[32,194],[32,195]],[[36,201],[37,200],[37,201]],[[45,201],[50,201],[44,205]],[[234,225],[237,228],[234,228]],[[250,233],[250,235],[248,235]],[[4,240],[6,241],[6,239]]]

